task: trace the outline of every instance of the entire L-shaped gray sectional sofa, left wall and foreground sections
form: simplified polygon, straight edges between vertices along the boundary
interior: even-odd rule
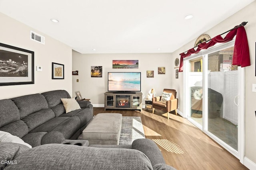
[[[90,123],[93,107],[78,101],[81,109],[66,113],[61,98],[70,95],[54,90],[0,100],[0,170],[175,170],[151,139],[132,145],[74,140]]]

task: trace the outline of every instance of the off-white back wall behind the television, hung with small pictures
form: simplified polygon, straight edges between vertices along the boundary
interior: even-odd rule
[[[173,64],[170,63],[170,53],[80,54],[73,51],[72,57],[72,69],[78,70],[78,76],[72,76],[72,95],[75,97],[74,92],[80,91],[83,98],[91,99],[94,107],[104,107],[104,93],[108,91],[108,72],[141,72],[141,92],[144,99],[151,88],[156,90],[157,96],[162,94],[164,88],[172,88],[171,78],[175,77],[175,72],[171,72]],[[113,69],[112,60],[139,60],[139,68]],[[102,66],[102,78],[91,77],[91,66]],[[165,67],[166,74],[158,74],[158,67]],[[147,70],[154,70],[154,78],[146,77]]]

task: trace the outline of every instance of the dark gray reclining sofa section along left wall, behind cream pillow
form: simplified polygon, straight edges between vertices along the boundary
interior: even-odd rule
[[[77,139],[93,117],[89,101],[78,101],[81,109],[65,112],[61,98],[65,90],[0,100],[0,131],[6,131],[36,147]]]

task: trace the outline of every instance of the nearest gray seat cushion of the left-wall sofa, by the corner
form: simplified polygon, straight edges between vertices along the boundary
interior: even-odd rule
[[[42,145],[42,138],[46,134],[47,132],[28,133],[22,138],[22,140],[31,145],[32,147],[37,147]]]

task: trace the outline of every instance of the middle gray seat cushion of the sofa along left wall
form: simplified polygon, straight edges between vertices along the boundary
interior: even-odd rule
[[[53,119],[50,119],[49,121],[39,125],[38,127],[36,127],[35,129],[33,129],[32,131],[30,131],[30,133],[36,133],[36,132],[50,132],[52,131],[55,127],[57,127],[58,125],[60,125],[60,123],[64,122],[66,119],[68,119],[69,117],[54,117]]]

